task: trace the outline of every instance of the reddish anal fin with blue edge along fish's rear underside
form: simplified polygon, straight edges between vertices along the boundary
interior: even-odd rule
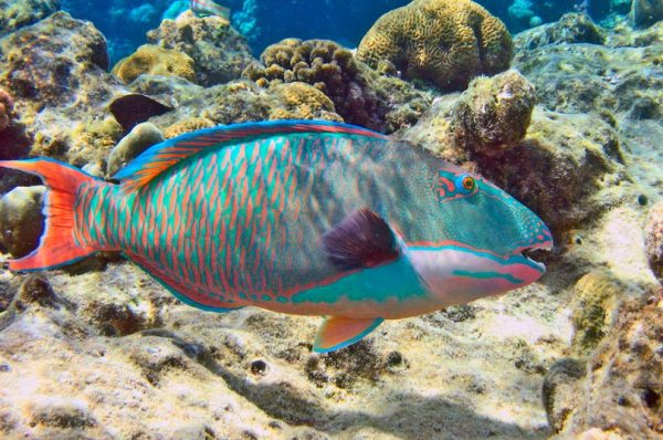
[[[136,263],[156,281],[158,281],[164,287],[168,289],[175,297],[185,304],[203,311],[220,313],[230,312],[242,307],[241,305],[233,304],[232,302],[218,300],[210,295],[192,291],[179,282],[173,275],[168,273],[167,270],[144,256],[136,255],[130,252],[124,252],[124,255]]]

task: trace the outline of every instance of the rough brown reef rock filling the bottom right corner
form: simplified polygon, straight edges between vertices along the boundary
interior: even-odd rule
[[[560,417],[558,438],[659,438],[663,434],[663,291],[619,307],[587,375],[573,383],[572,405]],[[551,408],[557,411],[554,399]]]

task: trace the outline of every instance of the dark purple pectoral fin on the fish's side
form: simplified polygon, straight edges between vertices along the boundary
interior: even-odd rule
[[[400,256],[398,239],[389,224],[366,208],[325,232],[323,247],[329,262],[341,271],[373,268]]]

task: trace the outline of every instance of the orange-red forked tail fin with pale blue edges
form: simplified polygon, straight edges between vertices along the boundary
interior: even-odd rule
[[[44,232],[32,253],[9,261],[12,271],[54,269],[73,263],[96,249],[76,244],[74,240],[74,206],[76,191],[94,177],[53,159],[2,160],[0,167],[18,169],[41,177],[46,186],[44,199]]]

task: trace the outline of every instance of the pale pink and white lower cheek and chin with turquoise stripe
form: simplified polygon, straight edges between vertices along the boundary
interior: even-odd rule
[[[409,259],[440,307],[518,289],[545,273],[543,264],[522,255],[504,258],[461,244],[411,248]]]

